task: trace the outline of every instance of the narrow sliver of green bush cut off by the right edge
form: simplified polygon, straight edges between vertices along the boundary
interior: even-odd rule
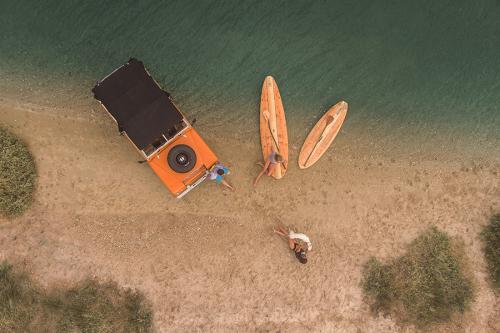
[[[494,288],[500,291],[500,214],[491,217],[481,232],[484,256]]]

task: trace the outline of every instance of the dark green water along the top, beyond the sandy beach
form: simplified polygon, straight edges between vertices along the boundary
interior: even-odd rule
[[[256,119],[272,74],[304,130],[345,99],[346,131],[500,142],[498,0],[1,0],[0,30],[0,74],[46,73],[41,89],[79,80],[90,96],[134,56],[219,125]]]

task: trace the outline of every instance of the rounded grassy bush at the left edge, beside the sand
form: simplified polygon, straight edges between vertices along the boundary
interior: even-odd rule
[[[23,213],[33,201],[35,182],[35,162],[28,148],[0,127],[0,214]]]

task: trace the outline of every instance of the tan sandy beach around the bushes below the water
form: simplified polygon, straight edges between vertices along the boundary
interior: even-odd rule
[[[499,156],[409,159],[333,149],[307,171],[292,159],[284,179],[254,189],[258,137],[228,147],[198,124],[230,161],[237,191],[205,182],[178,201],[135,162],[139,155],[98,107],[0,100],[0,123],[26,140],[39,171],[32,208],[0,220],[0,255],[40,283],[91,275],[140,289],[160,332],[414,332],[370,314],[360,271],[368,257],[398,255],[435,224],[464,240],[477,298],[464,319],[430,331],[500,331],[478,236],[500,209]],[[290,155],[297,153],[295,146]],[[277,221],[311,237],[307,265],[272,234]]]

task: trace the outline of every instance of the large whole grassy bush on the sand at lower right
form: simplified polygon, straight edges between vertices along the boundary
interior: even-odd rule
[[[461,252],[453,245],[445,233],[431,227],[403,256],[385,264],[369,259],[363,267],[362,288],[371,309],[418,327],[446,322],[454,313],[464,312],[473,288],[463,272]]]

